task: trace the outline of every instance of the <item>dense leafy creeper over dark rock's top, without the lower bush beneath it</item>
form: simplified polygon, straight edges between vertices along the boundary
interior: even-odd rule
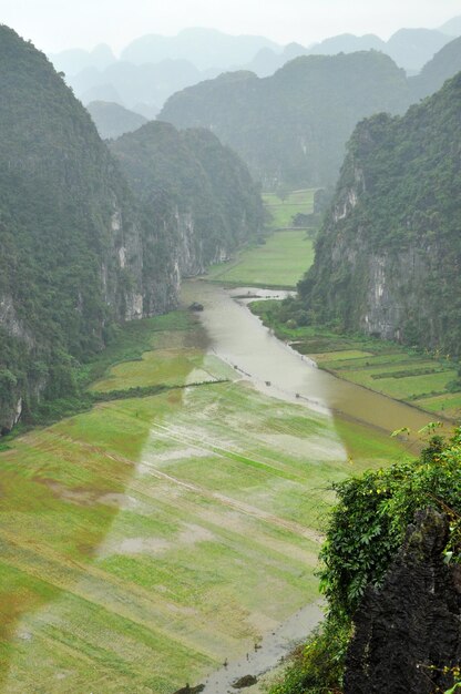
[[[321,550],[322,590],[330,610],[350,618],[371,583],[380,585],[414,512],[448,511],[447,545],[461,561],[461,431],[449,446],[432,437],[416,462],[403,461],[335,484],[339,498]]]

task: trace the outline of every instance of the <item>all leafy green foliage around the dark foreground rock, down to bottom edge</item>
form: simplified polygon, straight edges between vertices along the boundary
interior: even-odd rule
[[[341,691],[354,612],[366,586],[381,584],[418,509],[448,513],[445,560],[461,562],[461,429],[448,442],[433,436],[416,461],[349,478],[334,489],[338,503],[320,555],[328,615],[270,694]]]

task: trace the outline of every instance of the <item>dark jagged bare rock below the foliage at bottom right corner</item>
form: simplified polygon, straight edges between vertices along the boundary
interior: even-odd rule
[[[443,562],[448,519],[419,511],[380,590],[355,615],[345,694],[432,694],[461,660],[461,576]],[[440,687],[440,688],[437,688]]]

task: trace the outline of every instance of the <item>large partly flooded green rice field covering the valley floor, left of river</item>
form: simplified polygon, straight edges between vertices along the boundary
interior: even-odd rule
[[[170,389],[0,453],[0,691],[168,694],[201,680],[316,598],[328,486],[348,455],[360,471],[401,451],[347,423],[340,440],[328,418],[232,381],[202,341],[182,313],[127,326],[88,367],[93,392]]]

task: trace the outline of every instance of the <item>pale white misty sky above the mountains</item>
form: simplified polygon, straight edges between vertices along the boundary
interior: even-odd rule
[[[120,51],[146,33],[186,27],[266,35],[303,44],[338,33],[436,28],[461,14],[461,0],[0,0],[0,22],[53,52],[109,43]]]

